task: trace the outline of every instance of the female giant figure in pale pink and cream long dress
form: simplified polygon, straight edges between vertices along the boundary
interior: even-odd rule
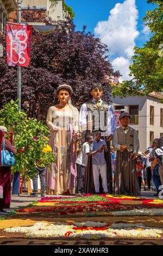
[[[76,154],[72,132],[78,131],[78,109],[71,103],[71,86],[62,84],[57,88],[59,104],[49,107],[47,125],[51,129],[49,145],[53,149],[56,161],[52,172],[46,170],[48,194],[75,193]]]

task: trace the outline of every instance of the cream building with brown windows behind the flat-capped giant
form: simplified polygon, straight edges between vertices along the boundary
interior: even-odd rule
[[[149,145],[152,145],[154,138],[163,135],[163,104],[160,103],[158,96],[163,99],[162,94],[156,93],[123,99],[112,98],[115,111],[124,109],[130,113],[130,126],[138,132],[140,151],[145,151]]]

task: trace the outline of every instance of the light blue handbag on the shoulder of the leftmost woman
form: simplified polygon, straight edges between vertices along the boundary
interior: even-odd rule
[[[16,163],[14,154],[8,150],[4,150],[4,139],[3,139],[3,149],[1,150],[1,166],[14,166]]]

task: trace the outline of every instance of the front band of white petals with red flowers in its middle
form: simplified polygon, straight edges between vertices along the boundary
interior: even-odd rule
[[[84,225],[83,225],[84,224]],[[32,227],[4,229],[5,232],[26,233],[26,237],[82,237],[101,239],[102,237],[132,237],[159,239],[162,228],[146,227],[144,224],[76,222],[71,225],[63,223],[37,222]]]

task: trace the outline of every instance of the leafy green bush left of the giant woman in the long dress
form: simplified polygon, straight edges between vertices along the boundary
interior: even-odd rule
[[[14,132],[14,144],[17,148],[15,155],[16,164],[13,172],[21,170],[26,179],[33,178],[37,172],[35,161],[41,161],[41,166],[51,169],[55,157],[51,151],[43,153],[42,149],[47,145],[46,137],[49,137],[48,127],[37,119],[30,119],[22,110],[18,111],[17,101],[11,100],[0,111],[1,125],[5,125]],[[34,139],[35,138],[35,139]]]

